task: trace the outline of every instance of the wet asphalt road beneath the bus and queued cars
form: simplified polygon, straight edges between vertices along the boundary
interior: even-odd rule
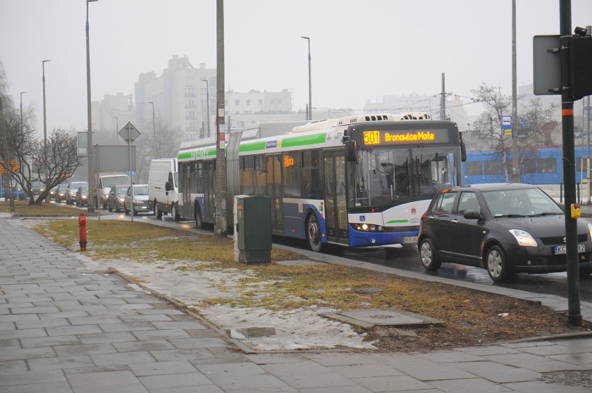
[[[65,203],[60,203],[62,206],[66,206]],[[72,206],[74,209],[86,210],[86,208],[77,208]],[[121,213],[110,213],[107,210],[101,209],[101,218],[104,219],[130,219],[129,216]],[[148,213],[140,213],[134,217],[134,220],[147,221],[151,224],[168,226],[170,228],[179,228],[182,226],[183,229],[195,231],[196,233],[213,231],[213,226],[210,228],[207,225],[203,230],[195,229],[195,223],[192,221],[173,221],[170,215],[163,216],[162,219],[158,220],[154,215]],[[274,237],[274,242],[279,244],[285,244],[293,247],[304,248],[306,244],[304,241],[293,240],[284,237]],[[442,267],[436,272],[427,272],[423,269],[419,253],[415,246],[404,246],[402,249],[396,249],[388,256],[384,249],[345,249],[338,246],[324,247],[323,252],[331,253],[333,255],[343,256],[344,258],[350,258],[352,260],[360,260],[363,262],[375,263],[377,265],[384,265],[388,267],[395,267],[397,269],[404,269],[410,271],[417,271],[427,276],[441,276],[450,280],[457,281],[468,281],[472,283],[480,283],[485,285],[495,285],[500,287],[508,287],[515,290],[523,290],[527,292],[539,293],[539,294],[554,294],[564,298],[568,297],[568,280],[566,273],[551,273],[551,274],[518,274],[516,280],[511,283],[493,283],[489,278],[485,269],[479,269],[477,267],[466,267],[462,265],[456,265],[453,263],[444,263]],[[580,300],[586,302],[592,302],[592,276],[580,277]],[[568,304],[566,302],[566,310]]]

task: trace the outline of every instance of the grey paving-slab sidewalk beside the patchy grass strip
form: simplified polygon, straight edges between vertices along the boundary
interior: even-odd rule
[[[199,319],[129,285],[107,267],[84,265],[59,244],[14,225],[16,221],[0,218],[1,392],[592,389],[592,338],[431,353],[245,354]],[[522,294],[554,301],[528,292],[511,295]]]

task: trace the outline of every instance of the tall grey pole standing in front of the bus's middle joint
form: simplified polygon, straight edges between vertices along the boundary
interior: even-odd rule
[[[226,146],[224,133],[224,0],[216,0],[216,172],[214,235],[226,237],[228,232],[226,193]]]

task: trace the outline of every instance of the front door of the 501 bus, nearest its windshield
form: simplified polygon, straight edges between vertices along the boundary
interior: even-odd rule
[[[348,244],[345,151],[324,152],[324,206],[327,241]]]

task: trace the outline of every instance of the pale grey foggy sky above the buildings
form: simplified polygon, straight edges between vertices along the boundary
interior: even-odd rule
[[[142,72],[173,55],[216,67],[215,0],[89,3],[92,101],[133,94]],[[518,87],[532,83],[532,37],[559,33],[558,0],[517,0]],[[225,88],[293,91],[313,108],[361,110],[386,95],[474,97],[481,83],[511,94],[511,0],[226,0]],[[0,0],[0,60],[15,107],[34,106],[42,133],[86,128],[84,0]],[[592,24],[592,1],[572,0],[573,26]],[[573,29],[572,29],[573,30]],[[467,100],[466,100],[467,101]],[[476,104],[470,104],[476,106]],[[478,112],[479,108],[467,108]],[[476,113],[475,113],[476,114]]]

